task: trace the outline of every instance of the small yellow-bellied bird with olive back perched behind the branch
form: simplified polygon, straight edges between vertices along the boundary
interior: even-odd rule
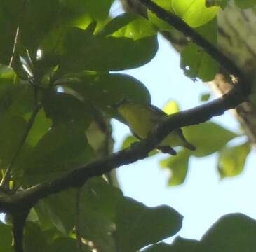
[[[147,138],[148,134],[158,123],[168,118],[167,113],[151,104],[123,100],[114,107],[130,127],[131,132],[138,139]],[[170,134],[161,141],[159,146],[157,146],[157,149],[162,153],[176,155],[176,151],[172,148],[175,146],[183,146],[191,151],[196,150],[196,147],[185,139],[182,129],[180,128],[170,132]]]

